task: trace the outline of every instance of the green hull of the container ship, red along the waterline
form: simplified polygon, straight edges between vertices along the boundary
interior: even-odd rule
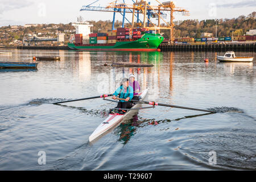
[[[158,46],[163,42],[160,34],[144,34],[141,39],[134,41],[117,42],[115,44],[68,44],[71,49],[85,51],[160,51]]]

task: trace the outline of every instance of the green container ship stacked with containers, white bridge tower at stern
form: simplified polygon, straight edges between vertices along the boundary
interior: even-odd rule
[[[108,33],[88,34],[88,23],[75,23],[75,39],[68,43],[71,49],[85,51],[160,51],[158,46],[164,38],[160,34],[155,34],[154,30],[147,28],[117,28]],[[87,26],[87,28],[86,28]],[[80,32],[86,30],[86,32]]]

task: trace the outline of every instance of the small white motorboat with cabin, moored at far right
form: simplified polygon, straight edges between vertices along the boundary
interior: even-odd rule
[[[217,56],[221,62],[251,62],[253,57],[237,57],[234,51],[227,51],[224,56]]]

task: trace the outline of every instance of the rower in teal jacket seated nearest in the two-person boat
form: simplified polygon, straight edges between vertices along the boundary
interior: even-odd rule
[[[127,78],[123,78],[121,83],[121,86],[117,90],[115,90],[115,93],[113,94],[113,99],[115,100],[117,96],[119,95],[119,98],[124,98],[125,101],[119,100],[117,107],[115,108],[122,108],[124,110],[120,111],[119,114],[125,114],[127,110],[133,107],[133,104],[130,102],[131,99],[133,99],[133,88],[129,86],[129,80]],[[112,113],[115,113],[115,111],[112,111]]]

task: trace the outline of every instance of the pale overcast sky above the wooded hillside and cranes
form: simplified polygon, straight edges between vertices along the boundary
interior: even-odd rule
[[[13,25],[24,25],[26,23],[70,23],[76,22],[77,17],[82,16],[84,20],[113,20],[113,13],[98,11],[80,11],[84,5],[89,5],[96,0],[0,0],[0,27]],[[100,0],[92,6],[106,6],[111,1]],[[158,0],[166,2],[167,0]],[[123,1],[121,1],[123,2]],[[126,0],[131,5],[132,0]],[[148,0],[151,5],[158,5],[155,0]],[[181,7],[189,11],[190,16],[183,16],[175,13],[174,20],[185,19],[220,19],[237,18],[240,15],[247,16],[256,11],[256,0],[176,0],[176,7]],[[142,15],[141,15],[142,17]],[[167,13],[166,21],[170,21],[170,14]],[[127,15],[131,21],[131,14]],[[117,14],[115,20],[122,20],[122,16]],[[152,20],[156,22],[156,20]],[[126,21],[127,23],[127,21]],[[163,21],[161,22],[163,23]]]

